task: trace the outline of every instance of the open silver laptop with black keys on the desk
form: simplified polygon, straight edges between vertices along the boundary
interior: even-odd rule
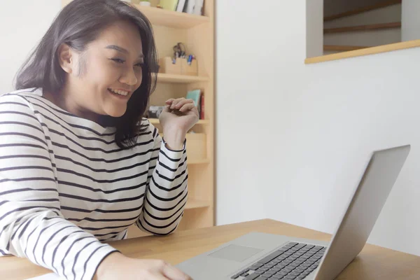
[[[360,253],[410,146],[372,153],[331,241],[251,232],[181,262],[194,280],[330,280]]]

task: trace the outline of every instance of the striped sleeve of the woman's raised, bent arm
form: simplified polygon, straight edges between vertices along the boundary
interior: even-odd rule
[[[137,226],[154,235],[169,235],[178,227],[188,197],[186,143],[181,151],[169,150],[165,138],[162,140],[158,130],[151,127],[155,144]]]

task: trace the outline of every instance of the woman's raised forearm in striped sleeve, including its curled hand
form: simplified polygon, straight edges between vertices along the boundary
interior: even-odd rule
[[[191,99],[169,99],[160,115],[164,137],[153,127],[155,146],[151,158],[144,207],[137,225],[155,235],[176,230],[188,195],[186,133],[198,120]]]

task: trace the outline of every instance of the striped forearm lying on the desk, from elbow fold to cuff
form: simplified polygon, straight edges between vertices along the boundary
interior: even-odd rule
[[[3,214],[6,209],[0,210]],[[116,251],[66,221],[57,211],[29,211],[33,213],[22,218],[3,216],[0,228],[6,230],[1,232],[2,251],[28,258],[66,279],[92,279],[99,262]]]

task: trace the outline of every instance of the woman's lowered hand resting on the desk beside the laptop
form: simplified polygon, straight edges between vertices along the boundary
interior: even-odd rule
[[[192,280],[190,276],[163,260],[128,258],[111,253],[99,265],[94,280]]]

